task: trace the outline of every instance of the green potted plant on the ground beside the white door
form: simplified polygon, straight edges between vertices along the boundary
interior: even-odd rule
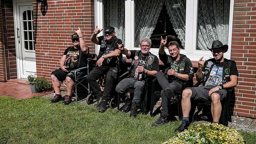
[[[45,77],[36,77],[35,75],[28,76],[28,83],[31,89],[31,92],[44,92],[51,91],[53,89],[52,83],[48,81]]]

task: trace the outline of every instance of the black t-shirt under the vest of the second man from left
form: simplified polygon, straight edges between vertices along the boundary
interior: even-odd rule
[[[98,38],[98,40],[99,40],[99,44],[98,44],[98,45],[100,45],[100,52],[103,52],[102,55],[105,55],[105,54],[108,54],[108,53],[110,53],[110,52],[114,52],[115,50],[118,50],[118,44],[122,44],[122,43],[123,43],[120,39],[116,38],[117,41],[116,41],[116,39],[114,39],[111,43],[108,43],[108,41],[106,40],[106,44],[102,44],[102,43],[101,43],[102,40],[103,40],[103,39],[106,39],[106,37],[105,37],[105,36],[99,36],[99,37],[97,37],[97,38]],[[116,44],[114,44],[114,50],[113,50],[113,51],[110,51],[111,44],[112,44],[113,42],[115,42],[115,41],[116,41]],[[122,53],[120,53],[120,54],[122,54]],[[102,56],[102,55],[101,55],[101,56]],[[115,61],[115,59],[111,59],[111,61],[110,61],[109,64],[108,64],[108,63],[107,63],[107,59],[105,59],[105,60],[102,62],[102,66],[115,67],[115,66],[116,66],[116,61]]]

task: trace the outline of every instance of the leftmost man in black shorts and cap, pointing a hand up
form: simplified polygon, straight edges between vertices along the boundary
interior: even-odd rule
[[[75,86],[75,70],[87,66],[87,57],[89,49],[84,41],[84,36],[81,29],[78,27],[76,33],[71,36],[73,46],[68,47],[61,60],[60,68],[53,71],[52,85],[55,95],[51,103],[58,102],[62,99],[60,95],[60,81],[66,80],[67,95],[65,95],[63,104],[68,105],[71,103],[71,95]],[[76,73],[77,78],[82,77],[87,71],[81,70]]]

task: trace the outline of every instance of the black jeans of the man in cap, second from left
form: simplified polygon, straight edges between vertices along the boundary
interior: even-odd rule
[[[104,91],[102,92],[100,85],[97,83],[97,80],[104,74],[107,76],[105,79]],[[100,66],[92,69],[92,71],[87,76],[87,82],[90,84],[90,87],[92,88],[96,98],[102,97],[102,100],[108,101],[110,99],[110,95],[113,92],[113,89],[115,88],[116,77],[117,73],[111,71],[108,66]]]

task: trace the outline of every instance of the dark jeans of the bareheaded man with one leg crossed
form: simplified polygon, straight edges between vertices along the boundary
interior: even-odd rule
[[[172,81],[171,83],[168,82],[168,80],[165,78],[164,73],[159,71],[156,73],[156,78],[159,83],[159,85],[162,87],[162,89],[171,88],[175,95],[179,95],[181,93],[182,84],[181,82]],[[161,110],[161,116],[169,116],[168,113],[168,100],[167,97],[164,94],[164,91],[161,91],[160,95],[162,98],[162,110]]]

